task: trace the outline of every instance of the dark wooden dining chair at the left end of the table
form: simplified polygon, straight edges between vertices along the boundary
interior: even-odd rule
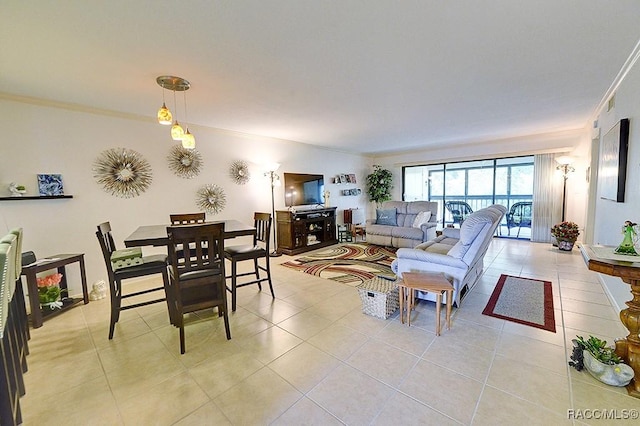
[[[111,264],[111,254],[116,250],[116,244],[111,235],[111,224],[109,222],[104,222],[98,225],[96,237],[98,237],[98,242],[100,243],[100,248],[102,249],[102,256],[104,257],[104,263],[107,267],[107,275],[109,277],[109,293],[111,295],[111,320],[109,323],[109,339],[113,339],[113,331],[115,329],[116,323],[118,322],[118,319],[120,318],[120,311],[139,308],[141,306],[151,305],[153,303],[164,302],[165,300],[167,301],[167,306],[170,307],[170,302],[169,300],[167,300],[167,295],[169,294],[167,256],[164,254],[143,256],[141,264],[126,266],[124,268],[114,270]],[[139,278],[154,274],[162,274],[162,287],[151,287],[131,293],[124,292],[122,280],[129,278]],[[159,297],[153,300],[141,300],[140,302],[131,303],[125,306],[122,305],[123,299],[142,296],[143,294],[158,291],[163,292],[163,297]],[[140,298],[138,298],[138,300],[140,300]],[[169,311],[169,315],[171,315],[171,311]]]

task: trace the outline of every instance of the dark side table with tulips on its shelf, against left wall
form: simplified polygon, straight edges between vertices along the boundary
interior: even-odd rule
[[[64,298],[62,300],[63,306],[61,309],[43,313],[40,308],[40,299],[38,298],[38,282],[36,280],[36,274],[42,271],[48,271],[50,269],[57,269],[58,273],[62,274],[60,280],[60,288],[65,290],[67,288],[67,272],[65,266],[71,263],[78,262],[80,266],[80,279],[82,280],[82,299],[73,299],[71,297]],[[55,256],[49,256],[45,259],[38,260],[31,265],[22,267],[22,275],[27,277],[27,288],[29,289],[29,304],[31,306],[31,325],[33,328],[42,327],[42,321],[46,317],[56,315],[67,308],[77,305],[81,301],[84,301],[86,305],[89,303],[89,292],[87,291],[87,275],[84,269],[84,254],[56,254]]]

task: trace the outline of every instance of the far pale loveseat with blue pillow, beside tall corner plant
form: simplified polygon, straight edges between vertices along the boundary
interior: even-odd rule
[[[437,213],[436,202],[385,201],[367,220],[367,243],[413,248],[436,237]]]

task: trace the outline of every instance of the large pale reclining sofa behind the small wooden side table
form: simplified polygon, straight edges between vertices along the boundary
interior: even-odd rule
[[[482,275],[484,255],[506,211],[494,204],[467,216],[460,228],[444,228],[437,238],[399,249],[391,269],[398,277],[403,272],[443,272],[453,284],[453,301],[460,307],[462,296]],[[436,300],[432,293],[417,292],[416,297]]]

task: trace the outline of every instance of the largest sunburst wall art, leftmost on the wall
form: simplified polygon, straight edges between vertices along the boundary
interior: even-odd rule
[[[94,178],[111,195],[137,197],[152,181],[151,166],[139,152],[111,148],[100,153],[93,163]]]

